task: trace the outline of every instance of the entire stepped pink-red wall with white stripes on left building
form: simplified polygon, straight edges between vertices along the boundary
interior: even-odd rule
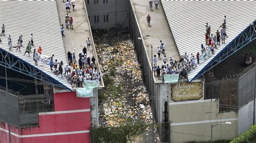
[[[78,98],[76,92],[58,93],[54,96],[55,112],[50,115],[39,115],[39,126],[30,128],[11,127],[11,132],[18,135],[33,135],[46,133],[63,133],[88,131],[91,126],[91,112],[56,113],[56,111],[90,109],[90,98]],[[6,123],[1,128],[8,130]],[[19,131],[21,130],[21,131]],[[64,135],[45,135],[44,137],[19,138],[11,135],[12,142],[45,143],[45,142],[90,142],[90,133],[75,133]],[[9,142],[8,133],[0,130],[0,143]]]

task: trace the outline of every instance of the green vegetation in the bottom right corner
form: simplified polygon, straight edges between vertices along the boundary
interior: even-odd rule
[[[249,142],[249,141],[256,141],[256,125],[253,125],[250,130],[242,133],[239,137],[234,138],[231,143],[237,142]]]

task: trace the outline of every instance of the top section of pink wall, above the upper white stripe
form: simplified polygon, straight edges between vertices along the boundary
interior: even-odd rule
[[[54,95],[55,111],[90,109],[90,98],[76,97],[76,92],[63,92]]]

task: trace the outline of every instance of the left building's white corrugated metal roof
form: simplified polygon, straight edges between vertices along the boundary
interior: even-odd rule
[[[28,53],[26,53],[25,56],[23,55],[26,45],[28,45],[28,41],[30,40],[30,35],[33,33],[35,47],[32,47],[32,52],[34,48],[37,49],[41,46],[43,55],[51,56],[54,54],[53,59],[63,61],[64,65],[67,63],[62,34],[60,32],[56,1],[0,0],[0,8],[0,27],[2,27],[2,24],[5,25],[5,36],[2,36],[0,47],[9,51],[8,35],[11,35],[12,45],[16,46],[19,35],[22,34],[23,47],[21,47],[21,52],[15,52],[16,49],[12,49],[10,53],[37,67],[72,90],[71,85],[67,82],[65,77],[62,78],[61,76],[56,77],[53,75],[50,66],[43,65],[39,62],[38,66],[36,66],[33,61],[33,53],[30,53],[30,56],[28,56]]]

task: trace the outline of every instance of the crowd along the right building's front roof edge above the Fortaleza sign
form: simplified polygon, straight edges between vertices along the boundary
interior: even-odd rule
[[[173,60],[172,56],[170,56],[169,59],[166,57],[165,45],[160,40],[160,45],[157,47],[158,57],[157,55],[154,55],[152,59],[154,75],[157,77],[163,77],[164,74],[179,74],[179,78],[187,78],[188,70],[197,67],[200,62],[200,56],[209,56],[210,54],[214,54],[214,49],[217,49],[217,46],[220,45],[220,39],[221,43],[225,44],[225,38],[228,38],[226,33],[226,16],[224,16],[223,21],[223,24],[219,26],[219,28],[221,28],[220,32],[217,30],[215,33],[211,33],[211,26],[206,23],[206,48],[201,44],[201,54],[199,52],[196,55],[193,55],[193,53],[190,55],[185,53],[184,55],[181,55],[179,61]],[[164,56],[163,59],[161,59],[161,54]],[[157,65],[158,60],[163,60],[161,66]]]

